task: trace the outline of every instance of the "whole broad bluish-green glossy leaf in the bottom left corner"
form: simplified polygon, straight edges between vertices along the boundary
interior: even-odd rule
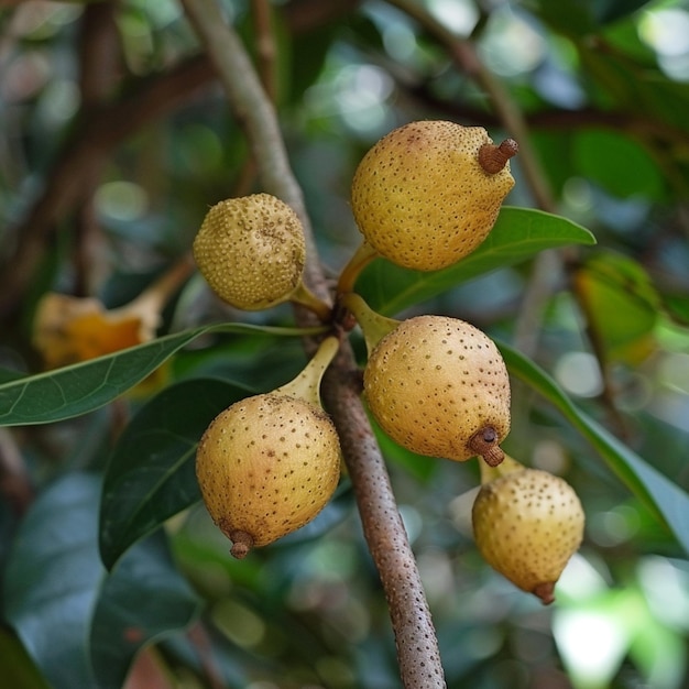
[[[52,689],[118,689],[136,650],[197,612],[162,532],[107,576],[94,520],[100,489],[95,474],[72,473],[45,490],[7,569],[7,619]]]

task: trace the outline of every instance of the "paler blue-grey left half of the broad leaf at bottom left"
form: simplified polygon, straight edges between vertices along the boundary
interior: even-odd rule
[[[94,686],[86,639],[105,573],[99,496],[95,475],[53,483],[22,522],[6,571],[7,619],[53,689]]]

